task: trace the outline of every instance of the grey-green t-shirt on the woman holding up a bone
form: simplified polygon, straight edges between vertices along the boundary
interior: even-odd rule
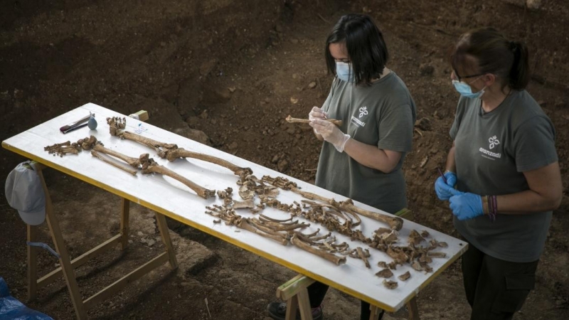
[[[342,120],[341,131],[352,139],[379,149],[403,153],[388,174],[359,164],[346,152],[324,142],[318,161],[316,185],[388,213],[407,206],[401,165],[411,150],[415,102],[403,81],[391,72],[370,86],[334,79],[322,109]]]

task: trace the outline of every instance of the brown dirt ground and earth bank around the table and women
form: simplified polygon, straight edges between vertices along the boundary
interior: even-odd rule
[[[326,35],[341,15],[363,12],[382,28],[388,68],[406,82],[418,119],[424,118],[403,167],[409,208],[416,222],[458,237],[450,210],[432,187],[451,144],[458,98],[446,53],[469,28],[495,26],[528,43],[528,91],[555,124],[565,187],[536,289],[514,319],[569,319],[569,3],[543,0],[529,10],[506,2],[519,1],[1,0],[0,138],[93,102],[123,114],[147,110],[151,124],[313,182],[321,144],[309,127],[284,119],[307,117],[324,102],[331,83],[323,58]],[[1,159],[4,183],[24,159],[5,149]],[[117,196],[53,170],[46,178],[73,257],[117,233]],[[26,228],[4,199],[0,276],[25,302]],[[129,250],[76,270],[84,297],[163,250],[151,210],[132,211]],[[294,272],[169,224],[179,269],[156,269],[90,310],[90,318],[266,319],[275,289]],[[47,272],[57,260],[42,253],[39,262]],[[63,279],[38,297],[28,306],[54,319],[74,318]],[[324,318],[358,319],[358,304],[331,290]],[[421,319],[468,319],[458,263],[420,292],[418,305]],[[385,319],[404,316],[400,311]]]

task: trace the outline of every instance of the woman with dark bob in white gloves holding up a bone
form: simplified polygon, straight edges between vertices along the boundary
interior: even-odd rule
[[[396,213],[407,206],[401,166],[413,142],[415,102],[403,81],[385,67],[387,46],[368,16],[342,16],[326,40],[324,55],[335,77],[324,105],[309,113],[314,133],[324,141],[316,185]],[[336,127],[326,118],[342,124]],[[327,289],[320,282],[308,287],[315,320],[322,319]],[[272,319],[285,319],[286,310],[285,303],[268,306]],[[361,319],[370,319],[369,314],[369,304],[362,302]]]

